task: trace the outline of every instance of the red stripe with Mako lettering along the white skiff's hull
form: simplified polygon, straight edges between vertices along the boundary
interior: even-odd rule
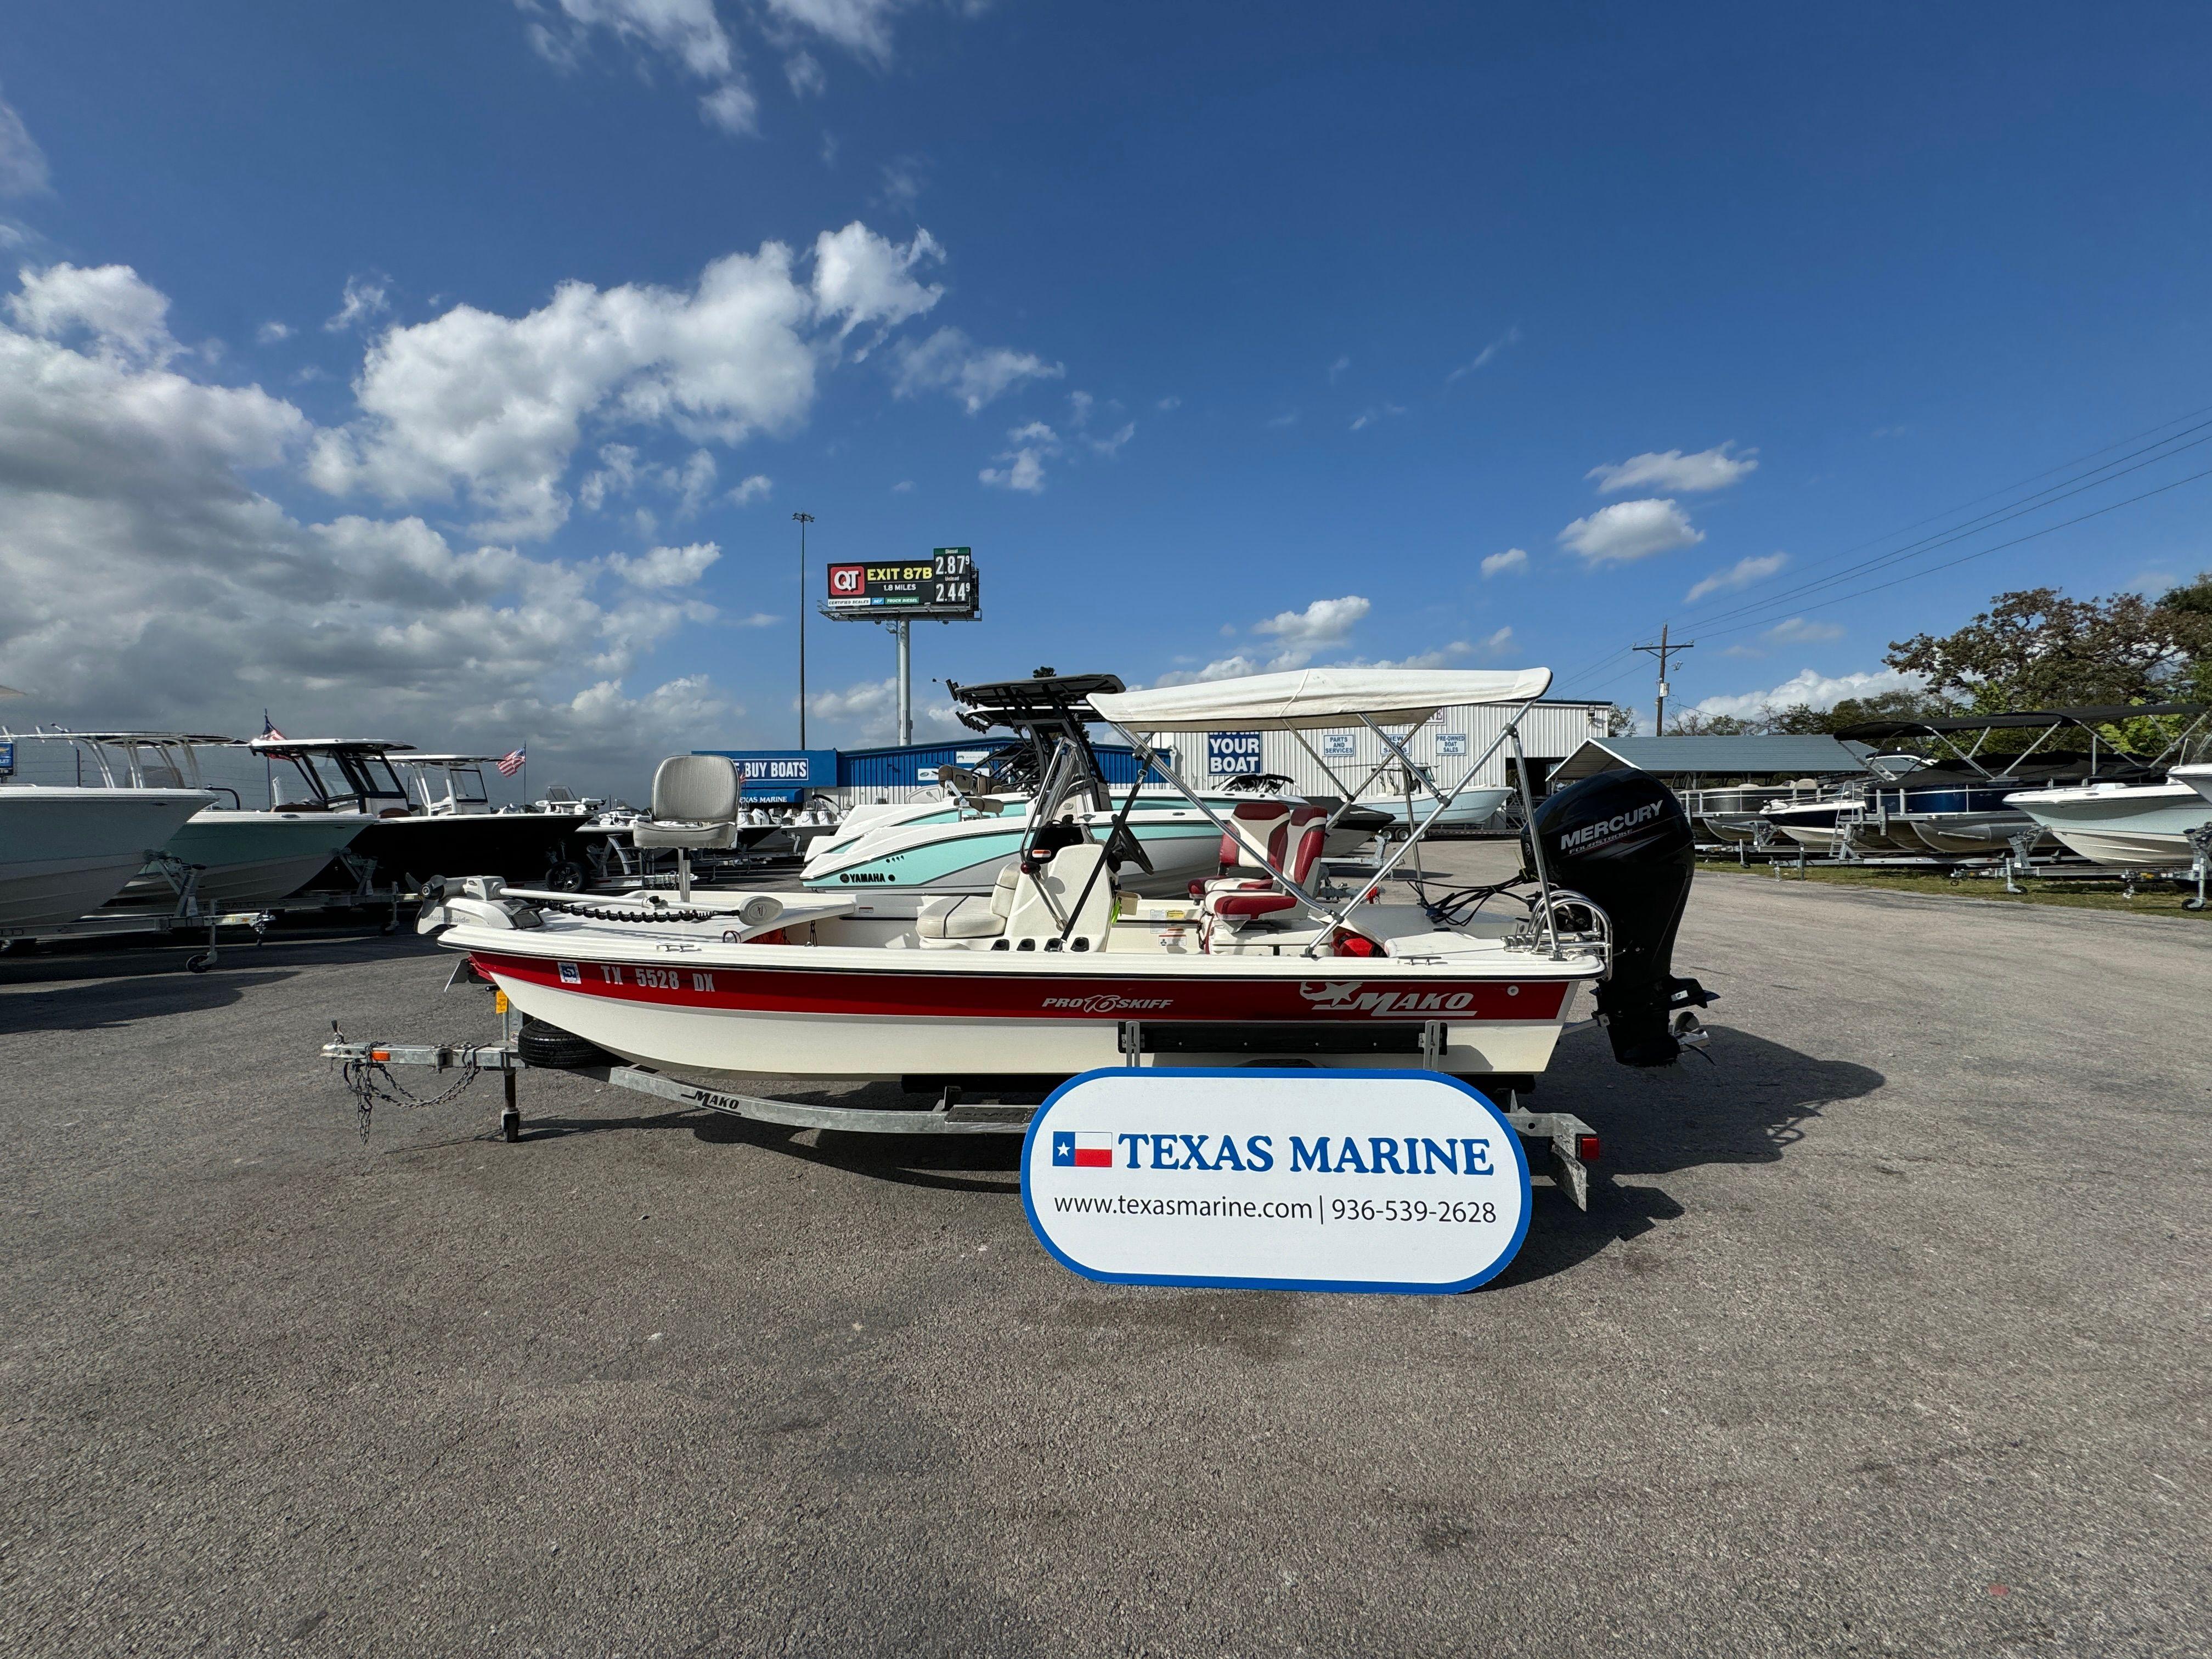
[[[553,991],[739,1013],[843,1013],[878,1020],[1557,1020],[1564,980],[1053,978],[1029,973],[889,973],[765,967],[560,962],[473,951],[487,973]],[[1334,967],[1334,964],[1329,964]]]

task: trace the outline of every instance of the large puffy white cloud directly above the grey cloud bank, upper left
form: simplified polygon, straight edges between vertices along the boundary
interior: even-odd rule
[[[456,305],[369,347],[363,414],[316,438],[310,478],[387,502],[458,489],[480,535],[551,535],[586,420],[723,445],[796,427],[814,403],[812,316],[776,241],[712,261],[688,292],[562,283],[529,316]]]

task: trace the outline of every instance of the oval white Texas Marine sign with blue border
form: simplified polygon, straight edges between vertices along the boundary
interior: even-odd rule
[[[1088,1279],[1449,1294],[1520,1250],[1528,1159],[1438,1073],[1093,1071],[1031,1119],[1022,1206]]]

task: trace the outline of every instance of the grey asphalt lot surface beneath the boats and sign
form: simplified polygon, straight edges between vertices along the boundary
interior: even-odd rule
[[[487,993],[181,958],[0,958],[0,1652],[2208,1646],[2197,922],[1701,878],[1710,1064],[1571,1031],[1608,1181],[1455,1298],[1093,1285],[1011,1146],[564,1075],[363,1141],[330,1022]]]

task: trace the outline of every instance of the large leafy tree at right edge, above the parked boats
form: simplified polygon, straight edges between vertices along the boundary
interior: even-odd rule
[[[2201,597],[2199,597],[2201,595]],[[2084,703],[2154,703],[2212,655],[2212,577],[2163,599],[2112,593],[2068,599],[2057,588],[2000,593],[1958,633],[1889,646],[1889,666],[1955,692],[1978,714]]]

